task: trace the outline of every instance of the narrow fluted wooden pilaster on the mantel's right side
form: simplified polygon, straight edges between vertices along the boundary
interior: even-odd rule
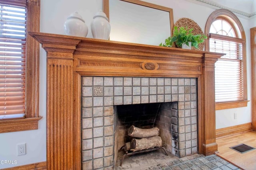
[[[215,55],[204,54],[202,69],[202,114],[198,117],[199,128],[202,128],[199,139],[202,142],[201,152],[204,155],[218,151],[215,137],[215,90],[214,68],[218,58]]]

